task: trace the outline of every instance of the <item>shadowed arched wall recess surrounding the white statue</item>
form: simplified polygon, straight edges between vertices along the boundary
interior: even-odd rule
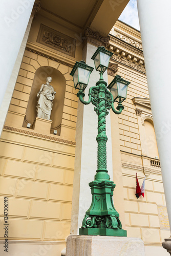
[[[32,128],[35,117],[37,116],[37,93],[40,90],[41,84],[46,83],[46,78],[48,76],[52,77],[52,82],[50,84],[56,92],[51,111],[51,133],[53,133],[54,130],[57,130],[57,135],[60,135],[66,79],[60,71],[48,66],[40,67],[35,72],[23,126],[27,127],[27,123],[31,123]]]

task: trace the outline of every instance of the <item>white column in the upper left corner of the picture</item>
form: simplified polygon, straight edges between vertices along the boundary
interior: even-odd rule
[[[2,0],[0,10],[0,135],[8,112],[31,23],[34,0]]]

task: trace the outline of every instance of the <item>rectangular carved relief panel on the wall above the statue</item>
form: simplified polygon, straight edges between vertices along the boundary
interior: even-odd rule
[[[37,42],[75,57],[76,40],[45,25],[40,25]]]

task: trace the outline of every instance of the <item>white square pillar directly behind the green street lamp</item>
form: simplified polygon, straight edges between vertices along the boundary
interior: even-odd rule
[[[97,47],[87,44],[83,49],[82,59],[94,67],[94,61],[91,59]],[[81,59],[80,59],[81,60]],[[99,72],[93,70],[88,87],[85,91],[85,100],[88,99],[89,88],[95,86],[99,80]],[[108,82],[107,71],[104,72],[103,78]],[[92,202],[91,189],[89,182],[94,180],[97,170],[97,115],[94,111],[94,105],[83,105],[78,102],[77,127],[76,127],[76,153],[74,168],[73,200],[72,200],[72,217],[71,233],[78,234],[82,226],[82,220],[86,211]],[[107,169],[111,180],[112,175],[112,140],[111,140],[111,120],[110,114],[106,116],[106,135],[107,142]]]

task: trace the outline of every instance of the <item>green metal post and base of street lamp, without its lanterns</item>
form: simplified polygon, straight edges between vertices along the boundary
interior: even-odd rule
[[[86,211],[86,215],[82,221],[82,227],[79,234],[100,235],[100,236],[117,236],[126,237],[126,230],[122,229],[119,220],[119,214],[113,205],[113,191],[115,184],[110,181],[108,170],[106,169],[106,142],[108,137],[105,134],[105,118],[108,111],[112,107],[112,94],[106,89],[107,83],[101,80],[96,83],[89,92],[89,101],[95,105],[95,112],[98,116],[98,135],[96,137],[98,143],[97,151],[97,171],[95,180],[89,183],[92,193],[92,203]],[[82,103],[84,93],[79,91],[77,96]],[[118,106],[121,113],[123,106]]]

